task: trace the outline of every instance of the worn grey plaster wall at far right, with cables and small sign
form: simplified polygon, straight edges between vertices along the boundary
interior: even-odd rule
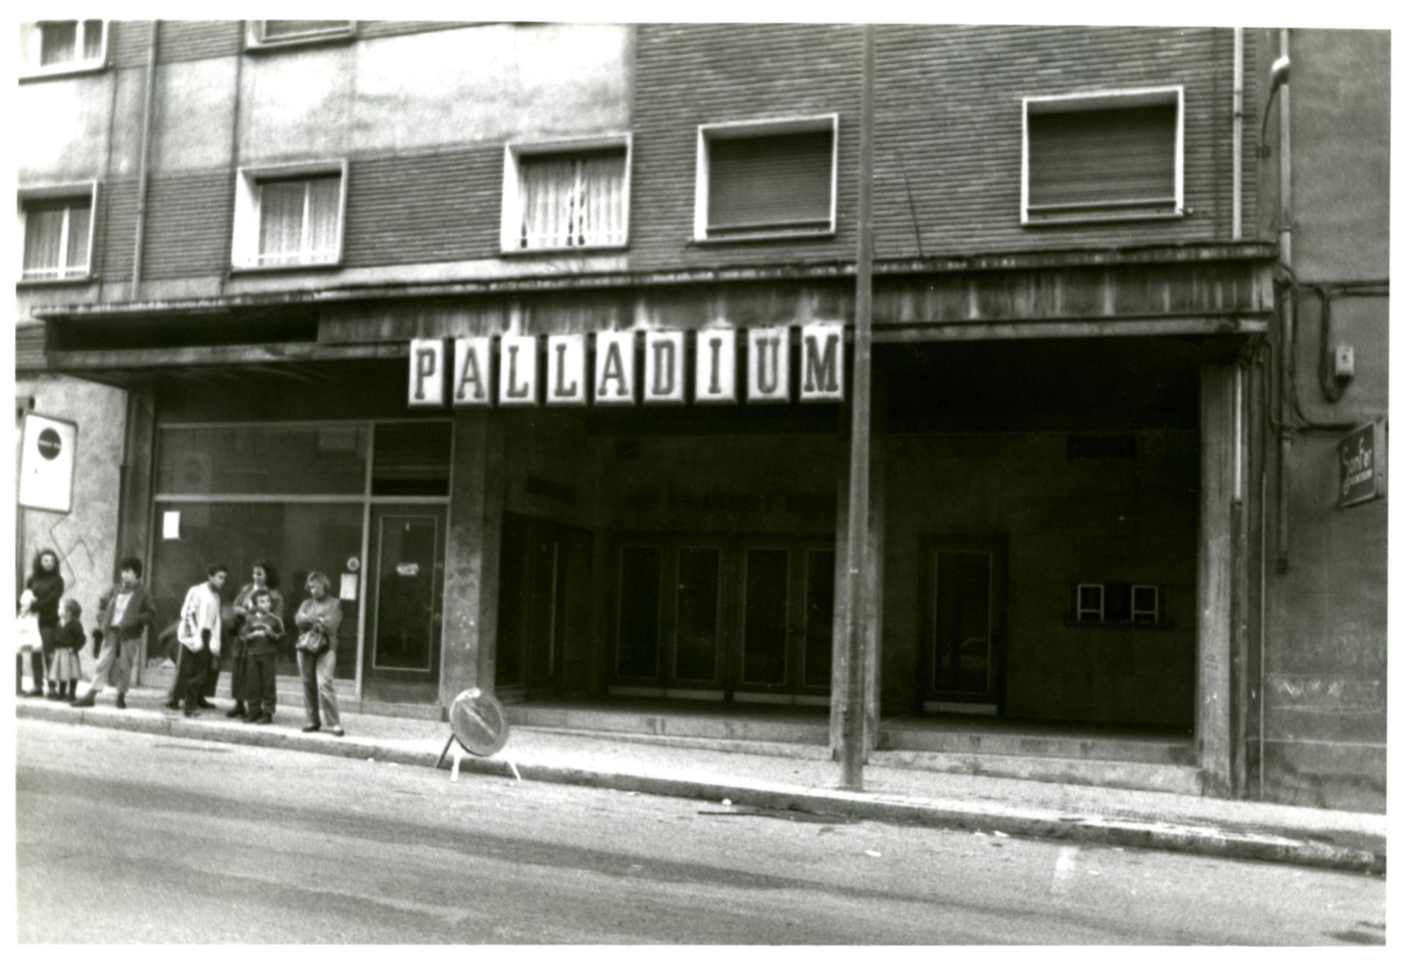
[[[1277,42],[1277,31],[1264,31],[1262,69]],[[1291,344],[1296,406],[1279,416],[1298,426],[1286,565],[1279,558],[1279,444],[1267,432],[1266,606],[1259,650],[1250,650],[1260,703],[1249,783],[1267,801],[1382,811],[1388,502],[1338,507],[1342,430],[1304,425],[1355,425],[1389,412],[1391,34],[1294,30],[1289,54],[1293,270],[1303,286]],[[1272,134],[1274,143],[1277,126]],[[1277,178],[1270,173],[1260,215],[1274,231]],[[1318,374],[1330,362],[1320,289],[1328,294],[1328,348],[1348,344],[1357,362],[1357,376],[1335,399]]]

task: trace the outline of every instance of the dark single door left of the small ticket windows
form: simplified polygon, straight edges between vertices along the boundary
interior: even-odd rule
[[[925,541],[919,672],[925,710],[1001,713],[1005,560],[995,539]]]

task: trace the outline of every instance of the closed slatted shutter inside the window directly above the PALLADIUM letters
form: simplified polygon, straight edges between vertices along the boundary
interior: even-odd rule
[[[708,229],[827,225],[833,132],[708,142]]]

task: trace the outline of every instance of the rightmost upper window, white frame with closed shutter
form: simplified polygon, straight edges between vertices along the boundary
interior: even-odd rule
[[[1185,96],[1178,86],[1022,102],[1022,222],[1180,217]]]

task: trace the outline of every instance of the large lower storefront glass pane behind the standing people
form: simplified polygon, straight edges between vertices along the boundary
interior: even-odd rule
[[[231,569],[222,600],[235,600],[251,582],[251,566],[265,559],[275,565],[285,596],[287,641],[278,669],[296,674],[295,611],[309,596],[304,579],[323,570],[331,593],[340,596],[340,577],[350,573],[350,559],[360,559],[364,539],[361,504],[157,504],[150,586],[157,604],[157,630],[176,624],[187,589],[207,576],[207,566]],[[176,518],[170,515],[176,514]],[[164,536],[176,532],[176,538]],[[358,566],[357,563],[354,566]],[[355,575],[357,576],[357,575]],[[353,678],[358,660],[358,602],[344,600],[334,675]],[[161,645],[149,641],[149,657],[161,657]],[[227,691],[222,686],[221,695]]]

